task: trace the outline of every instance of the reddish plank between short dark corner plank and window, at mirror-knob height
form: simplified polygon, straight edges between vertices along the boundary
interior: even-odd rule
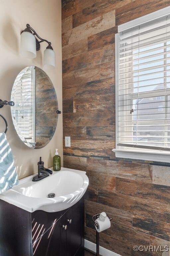
[[[115,94],[89,96],[73,100],[73,112],[110,110],[115,108]]]

